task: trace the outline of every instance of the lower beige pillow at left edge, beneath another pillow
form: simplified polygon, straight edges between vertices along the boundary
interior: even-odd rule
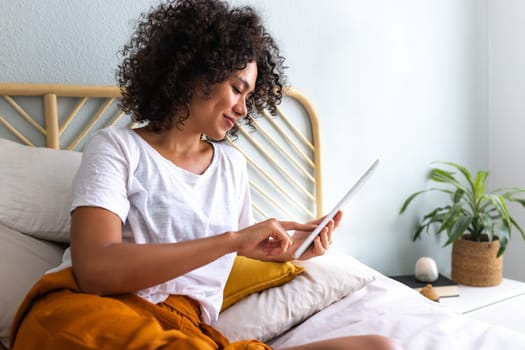
[[[0,337],[7,337],[18,306],[48,269],[60,264],[63,248],[0,225]]]

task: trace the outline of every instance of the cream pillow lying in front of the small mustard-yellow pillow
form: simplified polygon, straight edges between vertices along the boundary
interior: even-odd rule
[[[371,271],[342,253],[294,263],[305,271],[282,286],[240,300],[224,310],[213,326],[230,341],[267,342],[374,279]]]

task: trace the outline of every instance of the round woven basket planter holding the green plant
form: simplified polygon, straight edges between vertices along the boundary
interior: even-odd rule
[[[499,241],[475,242],[466,239],[452,244],[452,279],[476,287],[496,286],[503,278],[503,256],[496,257]]]

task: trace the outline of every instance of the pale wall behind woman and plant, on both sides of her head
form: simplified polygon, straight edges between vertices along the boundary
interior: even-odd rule
[[[232,0],[233,1],[233,0]],[[0,3],[0,81],[112,84],[129,20],[153,0]],[[327,207],[376,157],[336,248],[387,273],[422,255],[449,269],[434,237],[412,243],[429,163],[488,166],[487,5],[478,0],[235,1],[261,9],[287,56],[289,81],[321,118]],[[60,15],[59,15],[60,14]]]

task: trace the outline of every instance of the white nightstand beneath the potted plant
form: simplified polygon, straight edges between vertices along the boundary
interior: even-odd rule
[[[459,296],[439,303],[457,313],[525,333],[525,283],[504,278],[494,287],[459,285]]]

